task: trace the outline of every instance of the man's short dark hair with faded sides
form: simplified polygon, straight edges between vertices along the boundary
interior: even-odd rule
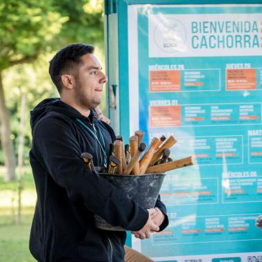
[[[49,74],[57,87],[59,93],[63,88],[61,83],[62,74],[76,74],[77,69],[81,66],[81,57],[84,54],[92,54],[94,46],[83,43],[72,43],[65,46],[50,61]]]

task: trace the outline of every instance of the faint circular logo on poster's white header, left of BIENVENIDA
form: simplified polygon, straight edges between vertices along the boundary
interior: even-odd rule
[[[164,52],[185,51],[186,31],[181,21],[168,18],[161,19],[154,30],[154,42]]]

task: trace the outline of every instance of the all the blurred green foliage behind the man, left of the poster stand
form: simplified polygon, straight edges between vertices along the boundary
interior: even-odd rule
[[[17,159],[21,94],[26,94],[24,163],[30,150],[30,110],[47,97],[58,97],[48,74],[49,61],[69,43],[92,43],[103,60],[103,0],[2,0],[0,2],[0,74],[10,139]],[[105,92],[103,93],[105,101]],[[104,103],[101,105],[104,110]],[[1,123],[3,124],[3,123]],[[0,165],[4,164],[0,148]]]

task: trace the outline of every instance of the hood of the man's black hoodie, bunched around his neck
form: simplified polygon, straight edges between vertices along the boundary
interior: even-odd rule
[[[33,129],[34,125],[46,116],[48,112],[59,112],[60,114],[64,114],[72,119],[85,119],[85,121],[90,121],[90,123],[97,122],[97,115],[94,113],[94,110],[90,110],[89,117],[85,117],[79,111],[72,108],[72,106],[67,103],[64,103],[59,98],[49,98],[41,101],[41,103],[30,112],[31,128]]]

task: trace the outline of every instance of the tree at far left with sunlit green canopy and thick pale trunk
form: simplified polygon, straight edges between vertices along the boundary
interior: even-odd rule
[[[10,130],[10,112],[3,90],[3,70],[37,59],[68,18],[61,17],[50,0],[4,0],[0,3],[0,121],[1,145],[7,172],[14,179],[15,158]]]

